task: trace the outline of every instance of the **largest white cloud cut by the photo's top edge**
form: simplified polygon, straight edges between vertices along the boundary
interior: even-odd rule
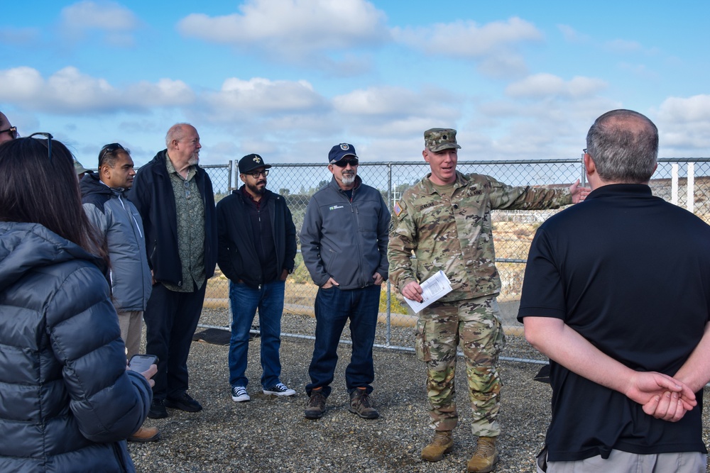
[[[365,0],[250,0],[239,10],[225,16],[192,13],[178,31],[290,62],[388,40],[385,14]]]

